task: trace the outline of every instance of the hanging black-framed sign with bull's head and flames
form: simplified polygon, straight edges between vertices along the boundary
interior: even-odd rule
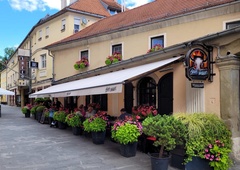
[[[186,55],[186,76],[190,80],[206,80],[209,77],[209,56],[201,48],[194,48]]]

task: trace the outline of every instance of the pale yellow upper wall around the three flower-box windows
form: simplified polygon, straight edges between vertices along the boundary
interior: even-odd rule
[[[108,57],[111,53],[112,45],[122,44],[123,60],[130,59],[132,57],[147,53],[148,49],[150,48],[151,37],[164,35],[165,47],[168,47],[174,44],[199,38],[210,33],[222,31],[223,25],[226,21],[237,19],[239,16],[240,13],[235,13],[218,16],[217,18],[202,19],[194,22],[163,27],[142,33],[135,33],[132,31],[132,34],[127,36],[125,35],[121,38],[54,51],[54,55],[57,58],[54,63],[56,80],[105,66],[105,60],[106,57]],[[97,38],[98,37],[95,37],[95,39]],[[79,53],[83,50],[89,50],[90,65],[88,68],[75,70],[73,65],[79,60]],[[67,69],[63,69],[63,64],[64,68]]]

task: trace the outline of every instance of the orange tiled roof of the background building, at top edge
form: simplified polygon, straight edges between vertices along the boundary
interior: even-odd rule
[[[68,6],[68,8],[92,14],[98,14],[106,17],[111,16],[108,10],[104,8],[101,1],[105,2],[109,6],[114,6],[121,9],[121,6],[114,0],[78,0]]]

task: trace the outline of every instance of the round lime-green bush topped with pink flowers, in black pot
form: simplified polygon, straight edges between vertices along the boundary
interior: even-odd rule
[[[127,117],[117,120],[111,129],[112,138],[120,143],[120,154],[124,157],[136,155],[138,137],[142,134],[142,125],[137,119]]]

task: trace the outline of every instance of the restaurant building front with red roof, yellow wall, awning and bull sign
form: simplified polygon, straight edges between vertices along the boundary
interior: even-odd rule
[[[215,113],[231,128],[239,159],[239,16],[239,1],[173,0],[105,18],[45,47],[54,55],[54,86],[30,97],[97,102],[112,116],[145,104],[160,114]],[[116,53],[122,60],[106,65]]]

